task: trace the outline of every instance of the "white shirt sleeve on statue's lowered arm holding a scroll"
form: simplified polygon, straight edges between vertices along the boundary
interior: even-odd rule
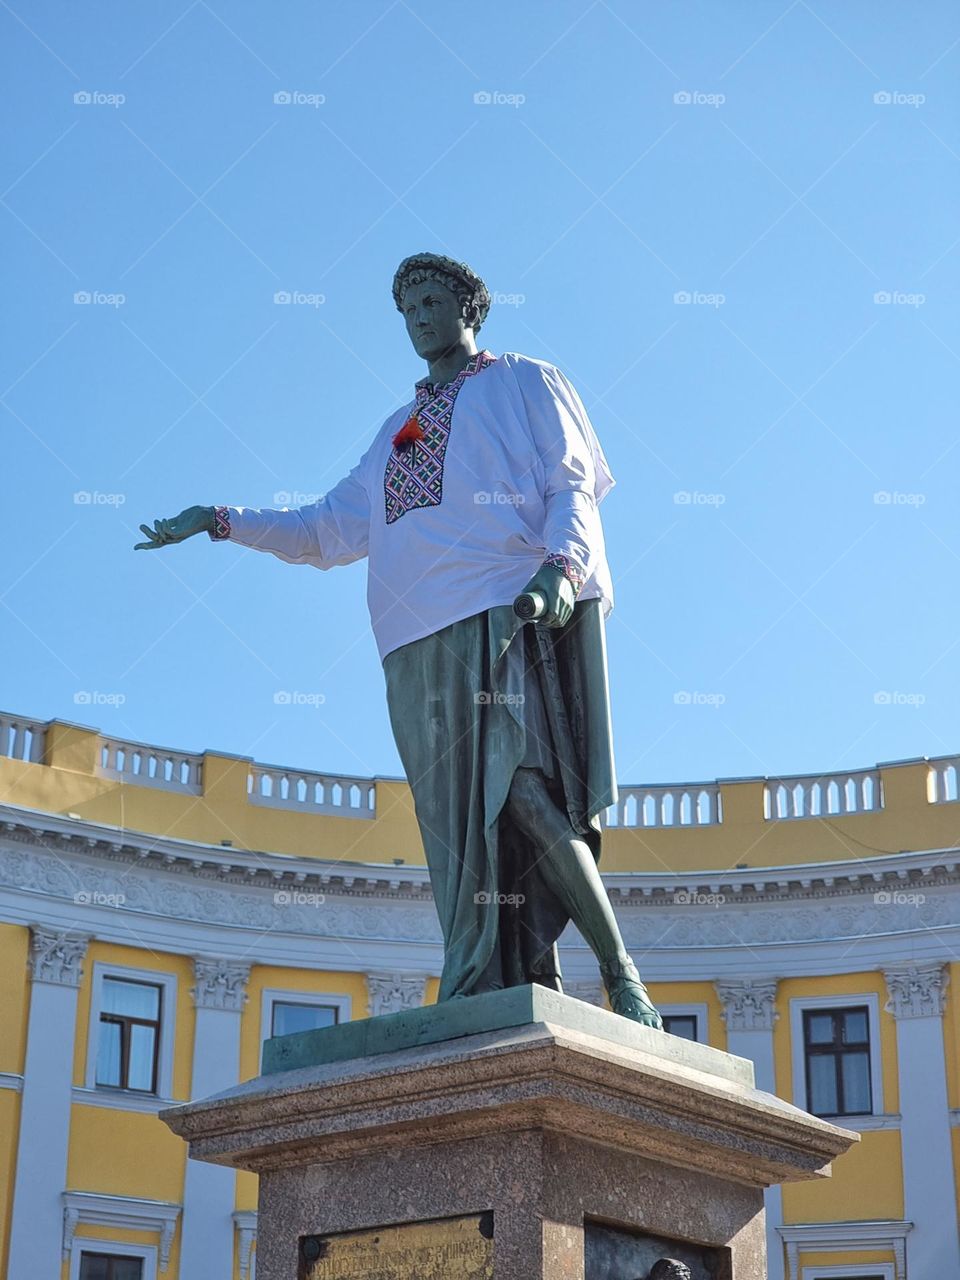
[[[604,550],[596,508],[616,481],[572,384],[553,365],[534,372],[521,389],[544,468],[544,564],[562,568],[579,591]]]

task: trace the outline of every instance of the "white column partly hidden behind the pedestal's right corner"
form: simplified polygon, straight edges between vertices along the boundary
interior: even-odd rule
[[[780,1018],[774,1009],[777,979],[735,978],[714,984],[723,1021],[727,1024],[727,1052],[749,1057],[754,1064],[756,1088],[777,1092],[773,1064],[773,1025]],[[783,1242],[777,1228],[783,1225],[783,1197],[780,1187],[763,1193],[767,1220],[767,1280],[783,1280]]]

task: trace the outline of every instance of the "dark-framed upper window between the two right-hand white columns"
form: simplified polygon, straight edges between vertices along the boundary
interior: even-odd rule
[[[873,1112],[865,1005],[804,1010],[806,1106],[818,1116]]]

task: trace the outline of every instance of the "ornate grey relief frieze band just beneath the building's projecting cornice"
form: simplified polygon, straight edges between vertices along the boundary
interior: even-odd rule
[[[358,868],[358,877],[364,869]],[[237,928],[442,945],[433,899],[344,896],[278,892],[269,884],[210,882],[188,868],[172,874],[142,861],[116,864],[93,856],[47,854],[37,849],[0,846],[0,887],[41,893],[76,904],[77,919],[90,919],[86,904],[155,918],[225,924]],[[96,892],[91,892],[92,887]],[[928,887],[928,886],[927,886]],[[927,933],[960,927],[960,892],[851,893],[815,905],[764,906],[741,902],[701,908],[664,905],[635,911],[620,908],[617,916],[631,948],[703,950],[762,943],[826,942],[891,934]],[[884,897],[891,901],[883,901]],[[300,901],[300,900],[305,901]],[[901,900],[902,899],[902,900]],[[102,916],[101,916],[102,918]],[[660,941],[660,933],[663,938]],[[566,940],[564,940],[566,941]]]

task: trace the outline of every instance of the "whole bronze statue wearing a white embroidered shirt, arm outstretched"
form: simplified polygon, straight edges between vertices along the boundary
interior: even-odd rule
[[[611,1007],[660,1028],[596,867],[617,799],[598,512],[613,477],[556,366],[477,348],[490,294],[465,262],[413,255],[393,298],[429,374],[347,476],[292,511],[188,507],[141,525],[136,549],[206,532],[321,570],[366,557],[443,927],[439,998],[561,991],[572,920]]]

